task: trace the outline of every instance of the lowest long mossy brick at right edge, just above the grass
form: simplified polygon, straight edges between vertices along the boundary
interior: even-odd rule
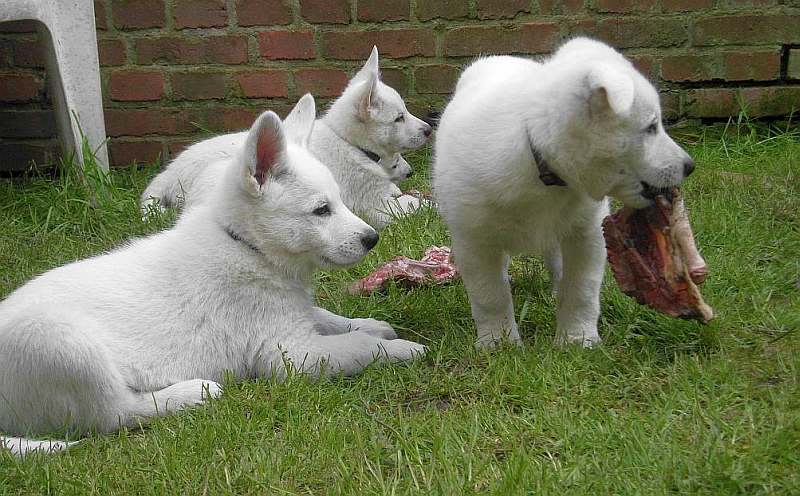
[[[693,118],[724,118],[742,110],[753,118],[783,116],[796,111],[797,102],[800,86],[703,88],[687,90],[684,95],[686,115]]]

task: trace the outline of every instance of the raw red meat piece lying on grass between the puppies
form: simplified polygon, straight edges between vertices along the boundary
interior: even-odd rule
[[[386,287],[389,281],[402,282],[408,286],[423,284],[444,284],[458,277],[458,269],[453,264],[450,248],[432,246],[425,250],[421,260],[397,257],[378,267],[375,272],[353,283],[350,294],[370,294]]]

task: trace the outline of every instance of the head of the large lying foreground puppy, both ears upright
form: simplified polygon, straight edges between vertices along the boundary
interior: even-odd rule
[[[256,119],[233,179],[235,228],[266,256],[306,267],[361,260],[378,234],[342,203],[327,167],[307,150],[314,98],[306,94],[284,122],[271,111]]]

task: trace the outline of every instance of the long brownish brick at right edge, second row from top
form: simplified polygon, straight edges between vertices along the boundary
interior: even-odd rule
[[[694,24],[696,46],[800,42],[800,15],[709,17]]]

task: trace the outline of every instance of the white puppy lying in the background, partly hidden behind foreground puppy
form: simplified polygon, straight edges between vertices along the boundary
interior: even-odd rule
[[[400,95],[379,76],[378,50],[373,48],[364,67],[317,122],[310,140],[311,152],[339,183],[345,205],[376,229],[385,227],[392,213],[419,207],[417,198],[403,195],[394,184],[402,178],[391,166],[399,153],[419,148],[431,134],[431,127],[414,117]],[[178,155],[142,194],[145,214],[181,200],[186,207],[207,201],[224,174],[220,159],[230,157],[245,136],[217,136]],[[386,165],[379,163],[384,161]],[[408,166],[405,160],[403,163]]]

